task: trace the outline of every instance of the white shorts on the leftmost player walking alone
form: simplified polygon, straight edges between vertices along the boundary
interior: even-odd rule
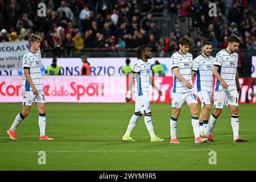
[[[46,96],[44,94],[34,95],[33,92],[23,92],[23,105],[32,106],[36,102],[46,103]]]

